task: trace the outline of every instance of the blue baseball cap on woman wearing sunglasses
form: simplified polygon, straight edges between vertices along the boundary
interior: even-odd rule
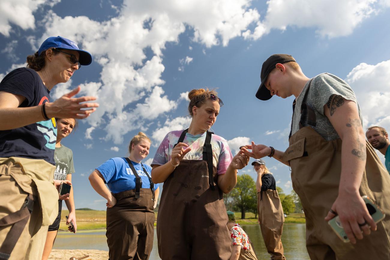
[[[92,62],[92,55],[88,51],[80,50],[77,44],[61,36],[47,38],[39,47],[38,55],[49,48],[59,48],[64,50],[75,50],[80,54],[78,62],[81,65],[89,65]]]

